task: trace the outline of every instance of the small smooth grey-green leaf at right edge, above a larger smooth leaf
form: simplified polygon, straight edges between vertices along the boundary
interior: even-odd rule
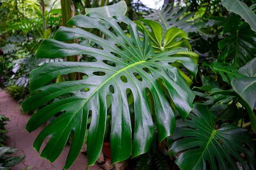
[[[256,77],[256,58],[239,68],[238,72],[246,77]]]

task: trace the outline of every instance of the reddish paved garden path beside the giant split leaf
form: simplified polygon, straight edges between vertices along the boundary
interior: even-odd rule
[[[21,105],[13,99],[5,91],[0,89],[0,114],[8,117],[11,121],[7,122],[6,130],[8,131],[7,135],[10,136],[10,139],[5,139],[7,146],[12,148],[20,149],[15,155],[26,155],[25,159],[18,165],[12,167],[13,170],[24,170],[30,165],[34,165],[29,168],[29,170],[44,170],[44,169],[62,169],[65,164],[66,156],[70,146],[65,146],[60,156],[53,163],[40,157],[40,154],[32,147],[36,136],[39,132],[45,127],[45,124],[40,126],[37,130],[32,133],[28,133],[25,130],[26,123],[28,122],[31,116],[23,114]],[[49,140],[49,139],[48,139]],[[46,141],[43,142],[43,147],[46,145]],[[41,147],[41,148],[43,148]],[[41,151],[41,150],[40,150]],[[73,165],[69,168],[70,170],[82,170],[86,169],[87,166],[87,157],[79,153]],[[97,164],[94,166],[89,166],[89,170],[98,170],[101,169]]]

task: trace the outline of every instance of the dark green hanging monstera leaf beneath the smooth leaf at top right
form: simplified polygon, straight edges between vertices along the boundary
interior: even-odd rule
[[[241,25],[239,23],[240,18],[233,13],[230,14],[223,31],[228,37],[218,43],[219,50],[222,50],[218,60],[221,62],[230,60],[234,67],[241,67],[242,63],[246,64],[254,58],[252,49],[256,48],[253,42],[256,37],[255,32],[247,23]]]

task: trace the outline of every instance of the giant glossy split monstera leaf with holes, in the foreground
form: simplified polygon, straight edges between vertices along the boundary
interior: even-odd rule
[[[98,20],[104,20],[113,29],[111,32]],[[119,27],[117,21],[128,25],[130,37]],[[164,93],[158,85],[162,80],[172,97],[176,109],[185,120],[191,109],[195,94],[186,85],[177,68],[170,63],[179,61],[193,76],[197,65],[189,57],[173,57],[187,49],[174,49],[155,54],[145,34],[141,41],[137,26],[126,16],[109,18],[99,13],[75,16],[67,23],[76,28],[61,27],[54,39],[46,39],[39,47],[37,58],[57,58],[78,54],[95,57],[95,62],[51,62],[30,73],[32,93],[22,104],[24,111],[36,109],[60,95],[73,96],[53,102],[29,120],[26,129],[31,132],[46,122],[55,113],[65,112],[48,124],[36,138],[33,147],[39,151],[43,140],[51,138],[41,152],[41,156],[53,162],[61,153],[68,136],[73,131],[73,139],[64,168],[70,167],[77,157],[86,135],[87,119],[92,114],[88,132],[88,165],[93,165],[99,157],[103,145],[107,117],[107,96],[112,99],[111,160],[112,163],[146,152],[153,139],[154,126],[147,102],[146,89],[152,93],[155,123],[159,140],[171,135],[175,129],[175,116]],[[102,39],[82,28],[100,30],[106,37]],[[62,41],[87,38],[101,49],[66,44]],[[109,64],[109,63],[112,64]],[[49,84],[59,75],[80,72],[87,79]],[[83,90],[87,89],[87,90]],[[134,98],[135,128],[132,135],[131,118],[127,99],[127,89]],[[133,137],[132,137],[133,136]]]

